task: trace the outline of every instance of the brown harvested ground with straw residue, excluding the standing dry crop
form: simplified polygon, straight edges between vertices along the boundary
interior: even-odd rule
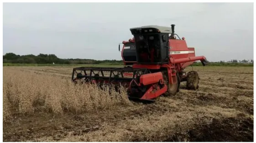
[[[70,78],[72,72],[72,67],[18,69],[60,79]],[[3,123],[3,140],[253,141],[253,67],[193,67],[193,70],[199,73],[199,90],[185,90],[186,83],[182,83],[176,96],[160,97],[153,104],[133,103],[78,115],[36,112],[21,116],[13,112],[10,122]]]

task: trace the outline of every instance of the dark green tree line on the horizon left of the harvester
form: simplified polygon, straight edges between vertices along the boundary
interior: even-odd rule
[[[20,63],[20,64],[101,64],[101,63],[122,63],[122,60],[92,60],[92,59],[61,59],[54,54],[39,55],[16,55],[6,53],[3,56],[3,63]]]

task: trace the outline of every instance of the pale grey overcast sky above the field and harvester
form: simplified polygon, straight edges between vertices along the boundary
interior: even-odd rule
[[[253,59],[253,3],[4,3],[3,54],[121,60],[131,27],[171,24],[196,56]]]

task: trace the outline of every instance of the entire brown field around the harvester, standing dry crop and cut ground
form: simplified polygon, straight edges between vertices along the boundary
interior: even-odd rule
[[[3,141],[253,141],[253,67],[194,66],[199,90],[141,104],[73,86],[77,66],[3,67]]]

